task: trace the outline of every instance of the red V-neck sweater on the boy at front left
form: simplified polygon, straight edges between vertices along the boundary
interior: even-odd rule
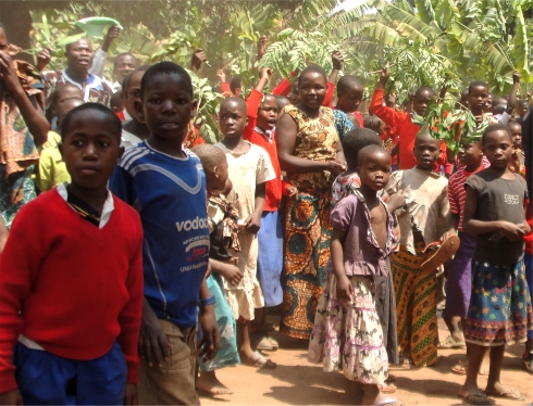
[[[1,391],[16,388],[13,348],[21,333],[75,360],[99,358],[116,341],[127,382],[137,382],[141,253],[139,215],[117,198],[101,229],[55,189],[24,205],[0,257]]]

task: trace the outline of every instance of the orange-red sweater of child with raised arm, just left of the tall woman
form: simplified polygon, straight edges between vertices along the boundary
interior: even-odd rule
[[[280,167],[280,161],[277,160],[277,149],[273,131],[266,134],[261,128],[256,126],[257,112],[261,106],[262,93],[252,90],[248,99],[246,99],[246,105],[248,107],[248,126],[243,132],[243,138],[251,143],[263,148],[270,156],[274,172],[276,173],[275,179],[266,181],[264,186],[264,212],[275,212],[280,208],[282,201],[282,168]]]

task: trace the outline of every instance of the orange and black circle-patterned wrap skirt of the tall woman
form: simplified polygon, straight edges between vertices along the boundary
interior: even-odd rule
[[[313,328],[330,258],[332,208],[329,191],[298,191],[287,200],[280,331],[295,339],[309,339]]]

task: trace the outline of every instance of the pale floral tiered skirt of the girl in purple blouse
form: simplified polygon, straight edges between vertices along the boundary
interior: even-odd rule
[[[371,277],[351,276],[351,303],[336,297],[337,278],[327,272],[309,342],[308,359],[323,359],[325,372],[342,369],[350,381],[383,384],[387,378],[388,358],[383,330],[375,310],[375,284]]]

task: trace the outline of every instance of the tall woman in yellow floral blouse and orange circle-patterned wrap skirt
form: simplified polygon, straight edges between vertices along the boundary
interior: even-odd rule
[[[331,187],[346,170],[335,117],[322,106],[327,78],[309,66],[298,79],[300,102],[287,105],[276,125],[280,165],[296,188],[285,207],[285,258],[280,331],[308,340],[330,257]]]

